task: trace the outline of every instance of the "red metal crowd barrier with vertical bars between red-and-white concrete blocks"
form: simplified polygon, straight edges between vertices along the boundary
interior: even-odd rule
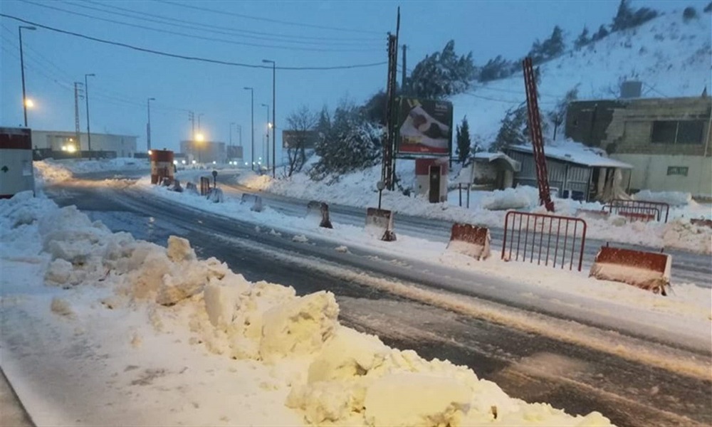
[[[508,212],[504,218],[503,260],[521,260],[544,265],[552,263],[572,270],[575,258],[577,269],[583,265],[586,244],[586,221],[569,216]]]

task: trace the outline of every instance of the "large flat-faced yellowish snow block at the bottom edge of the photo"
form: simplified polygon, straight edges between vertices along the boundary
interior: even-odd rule
[[[383,376],[366,391],[370,426],[456,426],[471,391],[455,379],[401,373]]]

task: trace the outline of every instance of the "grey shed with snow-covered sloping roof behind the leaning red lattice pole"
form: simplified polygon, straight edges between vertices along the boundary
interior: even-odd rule
[[[514,184],[537,186],[532,147],[510,145],[505,152],[521,164],[520,172],[514,175]],[[544,153],[553,194],[585,201],[629,198],[626,186],[631,165],[604,157],[601,150],[581,144],[547,146]]]

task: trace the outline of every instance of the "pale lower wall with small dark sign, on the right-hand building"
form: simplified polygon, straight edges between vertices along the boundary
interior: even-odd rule
[[[693,196],[712,196],[711,157],[661,154],[613,154],[611,157],[633,165],[632,190],[682,191]]]

